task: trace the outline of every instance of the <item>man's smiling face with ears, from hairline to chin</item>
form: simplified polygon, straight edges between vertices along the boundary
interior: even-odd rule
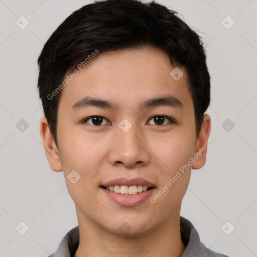
[[[201,135],[209,129],[196,137],[187,72],[179,67],[183,76],[175,80],[174,68],[152,47],[99,53],[62,91],[58,149],[42,121],[49,163],[64,172],[78,220],[139,235],[179,216],[191,168],[205,162]],[[111,185],[148,190],[120,194]]]

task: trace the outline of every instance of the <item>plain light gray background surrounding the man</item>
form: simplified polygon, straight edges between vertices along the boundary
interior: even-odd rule
[[[192,170],[181,215],[212,250],[257,256],[257,2],[157,2],[178,11],[198,31],[211,75],[207,162]],[[46,257],[77,225],[63,173],[51,170],[42,145],[37,58],[64,19],[89,3],[0,0],[1,257]],[[24,29],[16,24],[21,16],[29,21]],[[21,119],[29,126],[21,129]]]

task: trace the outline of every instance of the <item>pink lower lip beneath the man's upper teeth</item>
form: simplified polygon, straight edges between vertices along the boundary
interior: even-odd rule
[[[115,192],[111,192],[105,188],[102,188],[103,192],[112,200],[114,200],[115,202],[117,202],[120,205],[125,205],[125,206],[132,206],[132,205],[137,205],[142,203],[144,200],[146,200],[147,198],[149,198],[154,191],[154,188],[147,190],[147,191],[143,191],[142,193],[138,193],[136,195],[123,195],[123,194],[118,194]]]

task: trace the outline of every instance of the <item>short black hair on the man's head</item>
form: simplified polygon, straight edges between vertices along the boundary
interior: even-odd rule
[[[66,18],[38,58],[39,96],[57,147],[61,92],[56,89],[63,85],[65,76],[80,63],[85,64],[85,59],[96,51],[101,54],[142,46],[157,47],[169,56],[173,66],[186,68],[198,137],[210,104],[210,75],[200,36],[176,11],[155,1],[105,0],[85,5]],[[63,86],[59,86],[59,91]]]

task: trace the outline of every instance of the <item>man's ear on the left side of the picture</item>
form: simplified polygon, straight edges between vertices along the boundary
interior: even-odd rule
[[[62,171],[59,151],[54,142],[54,138],[50,133],[46,116],[43,116],[40,120],[40,134],[43,140],[46,157],[50,164],[51,169],[57,172]]]

